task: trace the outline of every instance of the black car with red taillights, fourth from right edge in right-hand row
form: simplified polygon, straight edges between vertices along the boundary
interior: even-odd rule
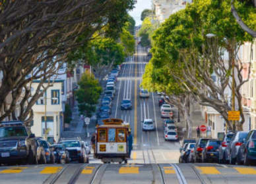
[[[202,162],[218,162],[218,149],[220,145],[221,141],[209,139],[202,151]]]

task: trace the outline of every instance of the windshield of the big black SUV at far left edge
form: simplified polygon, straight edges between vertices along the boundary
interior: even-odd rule
[[[26,133],[25,127],[23,126],[0,127],[0,138],[16,137],[16,136],[28,136],[28,133]]]

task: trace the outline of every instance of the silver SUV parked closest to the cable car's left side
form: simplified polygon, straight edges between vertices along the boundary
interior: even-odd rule
[[[89,156],[84,147],[84,143],[80,138],[61,139],[59,144],[64,145],[69,152],[71,161],[79,161],[80,163],[89,163]]]

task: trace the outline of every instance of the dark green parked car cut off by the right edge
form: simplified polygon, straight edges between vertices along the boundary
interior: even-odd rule
[[[238,152],[238,164],[249,165],[256,160],[256,129],[249,131]]]

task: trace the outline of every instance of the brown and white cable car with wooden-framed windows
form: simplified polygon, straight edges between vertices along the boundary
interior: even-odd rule
[[[117,118],[108,118],[102,122],[104,122],[103,125],[96,127],[96,158],[104,163],[127,163],[129,124]]]

